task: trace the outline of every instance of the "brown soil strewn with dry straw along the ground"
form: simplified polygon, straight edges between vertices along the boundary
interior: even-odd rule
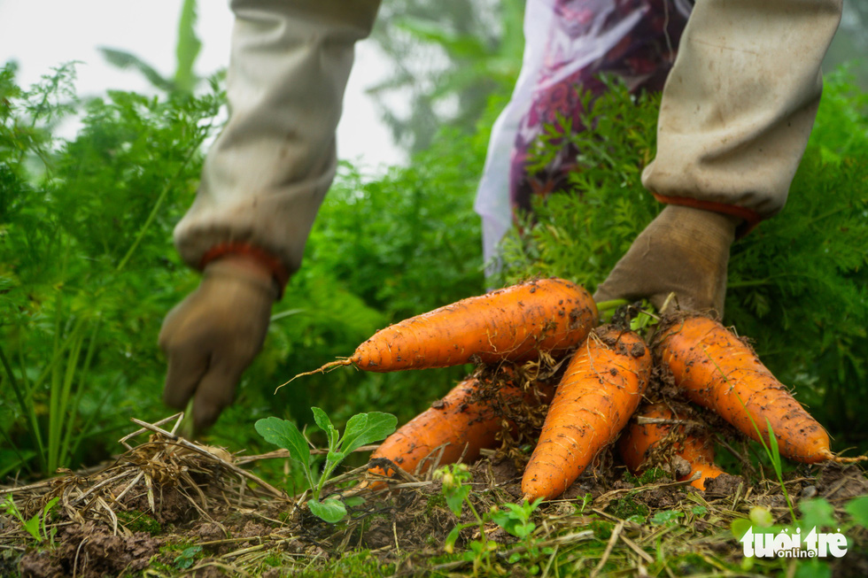
[[[283,560],[282,564],[287,560],[327,564],[358,548],[393,565],[397,574],[424,574],[422,569],[443,553],[446,536],[456,523],[472,520],[467,509],[456,520],[446,508],[440,482],[429,477],[403,489],[381,490],[364,504],[349,508],[349,521],[331,525],[294,498],[268,491],[264,482],[242,480],[227,459],[173,453],[167,440],[145,445],[134,450],[135,459],[120,459],[102,473],[66,474],[35,484],[38,487],[16,490],[13,496],[26,518],[50,497],[59,498],[51,519],[55,547],[36,544],[20,524],[0,515],[0,543],[12,548],[0,558],[0,574],[93,578],[136,575],[151,568],[169,575],[189,571],[215,576],[234,575],[227,568],[239,568],[240,575],[244,564],[252,563],[244,562],[245,557],[257,554],[260,566],[248,574],[276,577],[285,575],[283,566],[262,566],[267,556]],[[515,459],[493,455],[470,466],[470,499],[477,512],[517,502],[522,496],[521,472]],[[599,520],[612,524],[621,520],[624,528],[643,532],[650,530],[624,520],[634,514],[650,520],[656,512],[690,516],[692,508],[701,504],[716,513],[692,520],[693,531],[708,533],[706,547],[715,556],[736,560],[738,544],[732,536],[728,541],[711,539],[720,528],[728,528],[727,520],[763,505],[787,522],[787,501],[779,483],[756,481],[753,475],[751,479],[755,481],[724,474],[710,480],[705,491],[673,482],[667,474],[639,483],[607,451],[561,499],[542,506],[538,526],[550,527],[551,536],[556,536],[570,528],[595,528]],[[868,495],[868,479],[858,466],[805,466],[789,475],[787,492],[796,501],[824,497],[841,508],[853,497]],[[475,527],[463,530],[459,545],[474,539],[477,531]],[[835,561],[835,575],[868,575],[865,534],[855,536],[861,553],[854,548]],[[493,525],[486,528],[486,535],[495,542],[516,543],[514,536]]]

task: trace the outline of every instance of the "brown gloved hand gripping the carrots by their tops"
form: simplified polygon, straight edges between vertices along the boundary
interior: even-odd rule
[[[682,309],[724,314],[726,266],[740,219],[668,204],[633,241],[593,298],[647,298],[660,311],[671,292]]]

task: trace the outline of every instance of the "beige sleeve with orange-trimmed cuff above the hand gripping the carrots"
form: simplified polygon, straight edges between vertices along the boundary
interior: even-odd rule
[[[697,0],[643,184],[670,204],[771,217],[817,113],[842,0]]]

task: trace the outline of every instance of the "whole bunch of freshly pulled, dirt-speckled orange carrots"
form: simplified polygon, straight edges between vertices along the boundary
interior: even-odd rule
[[[833,455],[825,430],[748,345],[717,321],[697,315],[662,323],[652,353],[636,333],[597,327],[598,315],[590,294],[570,281],[527,281],[384,328],[350,358],[316,371],[347,365],[376,372],[469,362],[503,366],[544,353],[569,359],[524,472],[522,489],[529,500],[561,495],[601,450],[616,442],[639,407],[654,359],[694,403],[755,439],[775,435],[781,455],[808,463],[845,460]],[[430,467],[437,452],[440,464],[476,458],[496,443],[500,431],[515,427],[499,408],[539,405],[550,397],[550,392],[521,387],[514,377],[470,376],[386,439],[373,458],[410,472]],[[622,442],[624,461],[633,470],[657,443],[647,435],[668,431],[654,429],[634,426]],[[682,458],[701,471],[698,485],[719,474],[708,447],[694,442],[680,447]],[[390,466],[371,471],[394,474]]]

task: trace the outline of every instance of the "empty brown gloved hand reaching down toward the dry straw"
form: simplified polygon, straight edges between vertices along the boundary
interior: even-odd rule
[[[276,299],[275,281],[264,267],[224,257],[205,267],[198,289],[163,321],[159,347],[168,358],[163,399],[184,409],[194,397],[197,431],[232,403],[241,374],[262,349]]]

